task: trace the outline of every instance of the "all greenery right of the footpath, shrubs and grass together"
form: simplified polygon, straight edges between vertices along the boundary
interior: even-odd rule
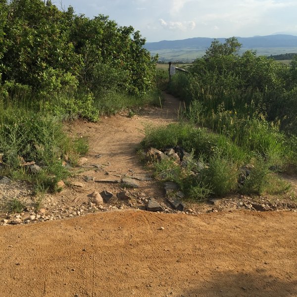
[[[240,55],[240,47],[236,38],[214,41],[190,73],[175,74],[169,89],[186,101],[189,123],[146,131],[144,148],[192,152],[190,167],[154,164],[157,177],[188,198],[284,193],[289,186],[276,172],[296,170],[297,57],[284,65],[250,50]]]

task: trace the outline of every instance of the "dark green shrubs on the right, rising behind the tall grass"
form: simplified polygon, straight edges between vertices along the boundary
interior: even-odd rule
[[[188,105],[200,102],[207,126],[210,117],[231,111],[230,117],[267,120],[296,134],[297,56],[285,65],[250,50],[239,55],[239,49],[235,38],[213,42],[190,67],[191,75],[173,77],[171,91]]]

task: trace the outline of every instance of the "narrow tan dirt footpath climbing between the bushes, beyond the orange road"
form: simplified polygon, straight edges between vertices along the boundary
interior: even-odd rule
[[[147,174],[148,169],[144,169],[136,150],[144,138],[144,129],[148,125],[165,125],[176,122],[178,111],[182,108],[178,99],[166,94],[166,99],[162,108],[146,108],[140,111],[140,115],[132,118],[121,114],[105,117],[99,123],[87,123],[76,121],[69,124],[67,130],[69,134],[76,136],[87,136],[90,143],[89,153],[86,155],[88,161],[83,165],[83,170],[78,173],[70,183],[80,181],[84,188],[72,187],[65,189],[61,194],[49,196],[50,206],[53,202],[57,205],[72,205],[79,207],[88,201],[87,195],[92,191],[109,190],[113,193],[120,191],[120,185],[113,183],[86,183],[84,176],[91,176],[95,179],[116,178],[119,176],[134,174]],[[99,158],[98,158],[99,156]],[[103,170],[90,168],[90,164],[106,165]],[[91,166],[92,167],[92,166]],[[88,170],[88,168],[90,170]],[[108,173],[108,176],[106,174]],[[156,181],[139,182],[138,191],[131,191],[132,196],[139,198],[141,193],[147,198],[163,197],[163,189]],[[62,197],[63,196],[63,197]],[[61,199],[62,198],[62,199]],[[61,203],[61,200],[63,202]],[[137,204],[137,201],[134,201]],[[125,206],[125,205],[124,205]]]

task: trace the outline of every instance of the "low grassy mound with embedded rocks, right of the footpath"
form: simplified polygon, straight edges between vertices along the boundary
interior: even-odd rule
[[[269,159],[269,155],[239,146],[225,135],[189,123],[147,127],[145,133],[143,148],[165,151],[179,147],[191,153],[186,162],[165,158],[153,163],[156,177],[176,182],[189,199],[203,200],[231,193],[279,194],[289,189],[271,165],[276,161],[275,155]]]

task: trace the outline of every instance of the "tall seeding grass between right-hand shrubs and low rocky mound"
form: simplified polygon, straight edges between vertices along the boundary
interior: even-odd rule
[[[243,91],[236,77],[207,75],[201,78],[181,73],[172,80],[171,90],[188,102],[186,116],[190,122],[224,135],[278,169],[296,164],[294,148],[289,148],[289,138],[281,131],[284,120],[267,120],[264,102],[270,100],[271,92],[249,87]],[[290,160],[288,156],[292,156]]]

